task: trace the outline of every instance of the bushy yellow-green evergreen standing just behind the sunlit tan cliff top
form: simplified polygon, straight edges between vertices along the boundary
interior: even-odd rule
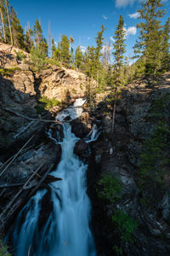
[[[67,36],[63,35],[60,43],[61,61],[65,64],[71,62],[71,55],[69,50],[69,39]]]

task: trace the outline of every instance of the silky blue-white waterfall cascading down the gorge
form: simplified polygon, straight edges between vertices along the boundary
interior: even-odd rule
[[[81,104],[81,101],[79,101]],[[77,104],[77,102],[76,102]],[[76,106],[77,107],[77,106]],[[77,117],[82,113],[80,106],[72,108],[69,116]],[[58,119],[64,119],[60,113]],[[94,239],[89,229],[90,201],[87,195],[86,171],[88,166],[73,153],[78,138],[71,132],[71,125],[63,124],[64,139],[59,166],[51,174],[62,178],[52,183],[51,201],[53,211],[38,232],[41,201],[46,190],[39,190],[20,212],[14,227],[13,243],[16,256],[95,256]],[[87,142],[99,136],[92,131]],[[24,222],[23,222],[24,218]],[[23,224],[21,224],[23,223]]]

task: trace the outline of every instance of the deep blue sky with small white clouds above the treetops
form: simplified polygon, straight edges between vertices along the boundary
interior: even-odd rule
[[[95,37],[102,25],[105,26],[104,38],[113,40],[119,15],[122,15],[127,31],[126,55],[133,55],[133,45],[139,36],[136,28],[140,1],[144,0],[10,0],[16,10],[23,28],[30,21],[31,27],[35,20],[41,20],[42,32],[48,38],[48,20],[50,20],[51,37],[56,44],[59,34],[75,39],[73,49],[81,44],[82,51],[88,45],[96,46]],[[162,0],[167,14],[162,22],[170,16],[170,0]],[[113,43],[111,41],[111,43]]]

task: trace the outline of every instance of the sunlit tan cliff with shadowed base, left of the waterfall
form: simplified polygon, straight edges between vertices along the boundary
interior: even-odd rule
[[[7,46],[3,44],[4,50],[8,48]],[[16,144],[16,141],[20,144],[19,140],[24,142],[35,132],[41,134],[42,130],[45,130],[46,123],[31,120],[52,119],[52,113],[45,109],[41,110],[41,115],[38,114],[40,96],[60,102],[59,106],[51,109],[53,115],[56,115],[60,109],[74,102],[75,98],[85,96],[87,84],[84,74],[64,67],[48,66],[42,70],[42,73],[35,73],[28,64],[17,62],[14,50],[8,53],[0,51],[5,63],[8,64],[6,67],[4,66],[6,64],[0,63],[7,68],[5,71],[7,74],[0,74],[0,115],[3,117],[0,119],[0,150],[2,152],[9,145]],[[8,112],[7,108],[13,113]]]

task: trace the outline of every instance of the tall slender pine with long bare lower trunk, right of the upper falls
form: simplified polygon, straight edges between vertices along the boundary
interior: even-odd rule
[[[124,85],[122,81],[122,65],[123,65],[123,54],[125,53],[125,29],[124,29],[124,20],[122,15],[120,15],[118,25],[116,26],[115,32],[115,43],[114,47],[114,57],[115,57],[115,66],[113,71],[113,81],[112,81],[112,94],[114,96],[114,106],[113,106],[113,115],[112,115],[112,127],[111,131],[113,133],[114,123],[115,123],[115,113],[116,113],[116,100],[117,96],[120,93],[120,88]]]

